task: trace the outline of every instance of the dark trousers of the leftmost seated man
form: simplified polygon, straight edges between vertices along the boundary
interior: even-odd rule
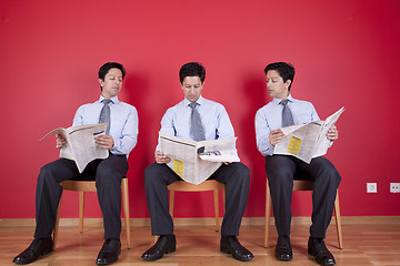
[[[104,239],[120,238],[121,234],[121,180],[127,175],[126,155],[112,155],[106,160],[94,160],[82,174],[68,158],[59,158],[41,167],[36,193],[36,238],[47,238],[56,225],[57,207],[66,180],[96,178],[97,194],[103,215]]]

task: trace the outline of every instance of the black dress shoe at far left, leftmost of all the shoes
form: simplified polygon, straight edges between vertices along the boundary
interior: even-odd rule
[[[41,255],[52,252],[52,241],[50,238],[34,238],[30,246],[20,253],[14,259],[16,264],[30,264],[37,260]]]

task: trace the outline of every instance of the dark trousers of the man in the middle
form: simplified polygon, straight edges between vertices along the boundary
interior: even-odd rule
[[[146,198],[152,235],[173,234],[167,186],[181,178],[166,164],[153,163],[144,171]],[[250,187],[250,170],[242,163],[222,164],[209,180],[226,184],[226,214],[221,235],[239,235]]]

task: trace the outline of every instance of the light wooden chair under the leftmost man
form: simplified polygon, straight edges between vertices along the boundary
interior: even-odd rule
[[[97,192],[96,190],[96,181],[63,181],[60,184],[66,191],[77,191],[79,192],[79,231],[83,232],[83,207],[84,207],[84,193],[86,192]],[[126,222],[126,231],[127,231],[127,245],[128,249],[130,249],[130,216],[129,216],[129,193],[128,193],[128,178],[123,177],[121,183],[121,192],[122,192],[122,205],[123,205],[123,215]],[[57,241],[58,241],[58,231],[59,231],[59,222],[60,222],[60,211],[61,211],[61,200],[59,202],[59,206],[57,208],[57,217],[56,217],[56,226],[53,232],[53,248],[56,249]]]

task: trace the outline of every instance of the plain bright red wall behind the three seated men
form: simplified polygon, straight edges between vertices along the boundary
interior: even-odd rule
[[[342,215],[400,215],[400,194],[389,193],[400,182],[399,12],[398,0],[0,1],[0,218],[34,217],[39,168],[58,157],[52,137],[39,139],[98,99],[97,70],[107,61],[126,65],[120,98],[139,111],[132,217],[149,216],[143,170],[164,111],[183,99],[178,71],[189,61],[207,68],[203,96],[227,108],[251,170],[246,216],[264,215],[253,119],[270,101],[262,70],[273,61],[297,66],[292,95],[312,101],[321,119],[347,108],[327,155],[342,175]],[[367,182],[378,183],[377,194],[366,193]],[[94,195],[88,205],[88,216],[101,215]],[[211,194],[180,193],[176,214],[212,216],[211,206]],[[294,193],[293,214],[310,212],[309,195]],[[77,214],[77,196],[66,193],[62,216]]]

